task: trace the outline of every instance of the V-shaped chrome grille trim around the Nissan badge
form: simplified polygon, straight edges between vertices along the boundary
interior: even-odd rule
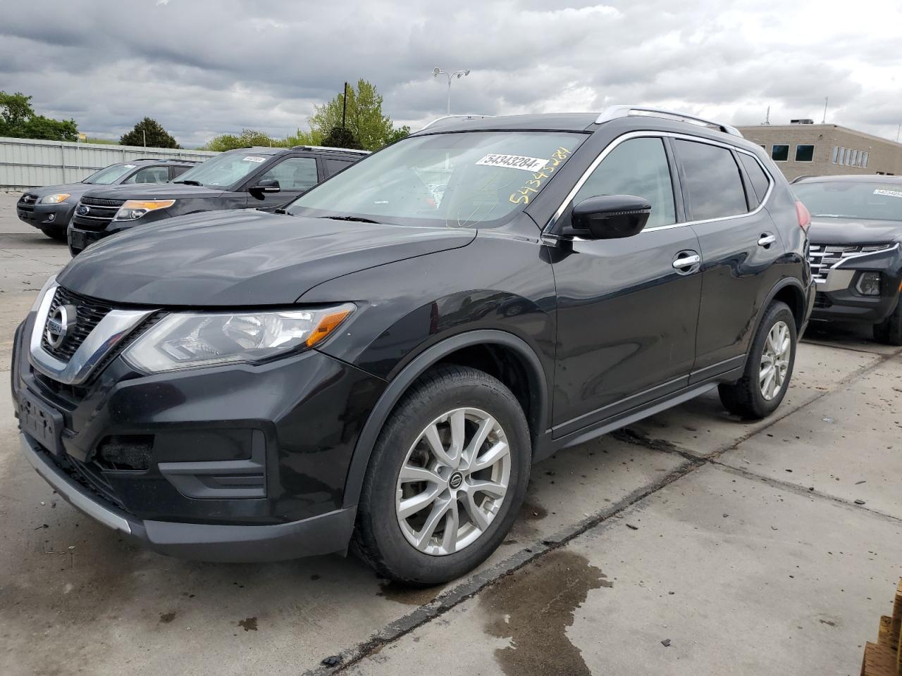
[[[38,306],[32,326],[28,361],[45,376],[66,385],[80,385],[90,377],[97,364],[103,361],[110,350],[156,310],[110,310],[97,323],[94,330],[87,334],[85,341],[78,345],[78,350],[67,363],[44,350],[41,344],[47,315],[50,313],[51,303],[59,286],[51,285],[41,297],[41,304]]]

